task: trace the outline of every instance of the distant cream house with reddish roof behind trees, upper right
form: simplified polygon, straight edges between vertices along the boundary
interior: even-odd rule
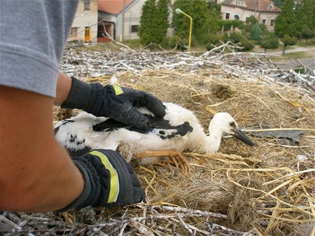
[[[269,0],[225,0],[221,3],[223,19],[245,22],[250,16],[255,16],[269,31],[274,30],[275,18],[279,12],[280,9]]]

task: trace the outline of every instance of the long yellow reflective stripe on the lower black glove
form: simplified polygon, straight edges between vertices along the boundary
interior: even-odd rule
[[[116,202],[119,194],[119,180],[118,180],[118,174],[115,168],[113,168],[112,163],[108,161],[108,157],[106,157],[105,154],[93,150],[90,152],[92,155],[96,155],[97,157],[101,158],[101,161],[106,169],[110,171],[110,194],[108,196],[108,203],[110,202]]]

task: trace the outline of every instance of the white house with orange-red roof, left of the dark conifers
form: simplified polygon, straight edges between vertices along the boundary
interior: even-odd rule
[[[99,7],[99,39],[98,42],[108,40],[105,31],[117,41],[138,39],[138,27],[144,0],[98,0]],[[169,7],[171,23],[173,9]],[[168,36],[172,35],[168,29]]]

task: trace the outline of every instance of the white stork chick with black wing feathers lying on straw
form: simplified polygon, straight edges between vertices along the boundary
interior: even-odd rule
[[[125,145],[126,148],[136,150],[136,156],[141,157],[142,164],[160,162],[163,156],[171,157],[171,162],[178,167],[177,157],[179,165],[186,172],[189,172],[189,163],[179,152],[215,153],[220,148],[223,133],[234,135],[253,146],[253,142],[238,129],[238,124],[228,113],[217,113],[209,125],[210,135],[206,135],[190,110],[174,103],[164,105],[166,115],[163,118],[153,117],[147,109],[139,109],[149,117],[149,133],[141,133],[112,119],[97,118],[82,112],[56,124],[55,137],[70,155],[83,155],[95,148],[117,150],[118,146]],[[164,161],[167,163],[169,160]]]

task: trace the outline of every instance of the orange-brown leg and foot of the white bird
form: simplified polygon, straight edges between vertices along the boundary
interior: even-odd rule
[[[178,150],[145,150],[142,153],[137,153],[136,157],[170,157],[171,159],[168,160],[161,159],[157,164],[166,166],[167,163],[173,163],[185,173],[190,172],[188,161]]]

